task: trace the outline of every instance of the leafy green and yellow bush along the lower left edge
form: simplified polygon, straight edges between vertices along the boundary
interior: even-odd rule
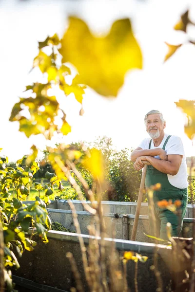
[[[33,203],[24,203],[33,183],[33,175],[39,169],[38,162],[28,161],[29,157],[24,156],[15,165],[10,165],[12,167],[6,167],[4,164],[7,159],[0,158],[0,237],[4,239],[0,248],[4,249],[2,265],[7,291],[14,291],[10,268],[20,267],[17,256],[21,256],[24,250],[34,249],[36,242],[32,238],[35,234],[47,243],[47,230],[43,224],[47,228],[51,225],[44,202],[49,202],[47,193],[43,197],[44,201],[36,197]]]

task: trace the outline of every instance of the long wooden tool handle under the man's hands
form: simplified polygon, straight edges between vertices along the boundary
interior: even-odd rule
[[[142,201],[142,196],[143,196],[143,189],[144,189],[145,178],[146,178],[146,170],[147,170],[147,165],[145,164],[144,167],[143,167],[143,173],[142,173],[141,183],[140,183],[140,187],[139,187],[136,215],[135,215],[135,220],[134,220],[131,240],[135,240],[136,239],[137,225],[138,225],[139,213],[140,213],[140,208],[141,208],[141,201]]]

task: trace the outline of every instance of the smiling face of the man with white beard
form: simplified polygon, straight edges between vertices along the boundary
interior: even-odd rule
[[[162,123],[158,113],[149,114],[146,120],[146,131],[152,139],[157,139],[164,132],[165,122]]]

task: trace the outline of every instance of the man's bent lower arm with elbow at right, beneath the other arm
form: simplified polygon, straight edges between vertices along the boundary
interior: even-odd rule
[[[173,154],[168,155],[168,161],[156,159],[151,156],[143,156],[142,160],[148,161],[150,164],[152,164],[157,170],[170,174],[170,175],[176,175],[179,171],[179,167],[182,162],[183,155]]]

